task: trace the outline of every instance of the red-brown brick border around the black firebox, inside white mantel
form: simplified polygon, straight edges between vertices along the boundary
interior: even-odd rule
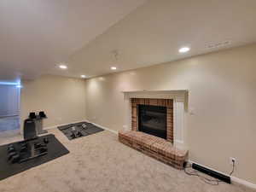
[[[154,99],[154,98],[131,98],[131,130],[140,131],[139,127],[139,108],[141,106],[163,107],[166,108],[166,140],[173,143],[173,100]],[[153,134],[155,135],[155,134]]]

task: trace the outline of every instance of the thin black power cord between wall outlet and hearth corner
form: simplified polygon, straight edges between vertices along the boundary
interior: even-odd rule
[[[232,171],[230,172],[230,176],[233,174],[234,170],[235,170],[235,161],[232,160]],[[184,165],[183,171],[189,175],[189,176],[196,176],[199,177],[203,182],[207,183],[207,184],[211,184],[211,185],[218,185],[218,183],[221,183],[223,181],[220,181],[218,179],[211,179],[208,177],[204,177],[200,174],[200,172],[192,170],[192,166],[189,165],[187,166],[187,163]]]

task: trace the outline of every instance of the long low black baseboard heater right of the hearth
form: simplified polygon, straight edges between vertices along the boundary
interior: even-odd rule
[[[230,180],[229,176],[226,176],[226,175],[224,175],[222,173],[219,173],[219,172],[215,172],[211,169],[208,169],[205,166],[200,166],[198,164],[192,163],[192,168],[199,171],[199,172],[204,172],[209,176],[218,178],[219,180],[224,181],[225,183],[231,183],[231,180]]]

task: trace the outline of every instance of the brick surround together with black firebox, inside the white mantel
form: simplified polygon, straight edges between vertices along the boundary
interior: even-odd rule
[[[131,130],[166,138],[173,143],[173,100],[131,98]]]

